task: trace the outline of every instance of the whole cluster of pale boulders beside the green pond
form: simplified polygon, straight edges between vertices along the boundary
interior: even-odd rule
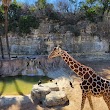
[[[68,102],[64,91],[60,90],[55,83],[34,85],[31,91],[31,98],[39,100],[45,106],[59,106]]]

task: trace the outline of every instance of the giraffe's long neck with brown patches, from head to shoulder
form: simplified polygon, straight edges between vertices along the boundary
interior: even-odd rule
[[[94,73],[93,70],[85,65],[82,65],[74,58],[72,58],[66,51],[61,52],[61,57],[68,64],[68,66],[79,76],[83,77],[84,74],[89,72],[91,75]]]

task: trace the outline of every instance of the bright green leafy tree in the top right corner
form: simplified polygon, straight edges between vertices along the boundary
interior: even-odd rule
[[[110,0],[86,0],[81,9],[92,21],[94,18],[103,20],[104,13],[110,11]]]

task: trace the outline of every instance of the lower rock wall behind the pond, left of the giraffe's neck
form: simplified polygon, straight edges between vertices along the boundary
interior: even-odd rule
[[[59,69],[60,67],[60,69]],[[67,69],[67,70],[66,70]],[[42,75],[57,78],[68,73],[68,66],[58,58],[48,60],[47,56],[36,59],[13,59],[0,61],[0,76]],[[68,76],[68,74],[65,74]]]

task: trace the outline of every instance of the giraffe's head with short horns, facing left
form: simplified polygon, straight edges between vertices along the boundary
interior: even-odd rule
[[[61,56],[61,48],[59,46],[54,47],[52,52],[49,54],[48,58],[54,58],[54,57],[58,57],[58,56]]]

